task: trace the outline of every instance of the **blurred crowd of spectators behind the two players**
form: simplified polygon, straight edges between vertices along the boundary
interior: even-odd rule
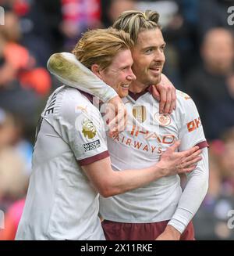
[[[48,57],[70,51],[83,31],[109,27],[127,9],[160,13],[164,73],[197,104],[210,144],[210,186],[193,218],[196,238],[234,240],[227,224],[234,210],[234,25],[227,21],[234,0],[0,0],[0,6],[0,240],[14,239],[37,120],[61,85],[46,69]]]

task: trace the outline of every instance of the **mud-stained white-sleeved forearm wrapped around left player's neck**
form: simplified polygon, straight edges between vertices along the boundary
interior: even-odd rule
[[[62,83],[88,92],[105,103],[118,96],[112,87],[97,78],[72,53],[60,52],[51,55],[47,67]]]

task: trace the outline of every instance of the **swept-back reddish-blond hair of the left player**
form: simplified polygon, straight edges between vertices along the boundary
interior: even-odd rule
[[[110,27],[84,33],[73,49],[73,54],[89,69],[96,63],[102,70],[112,63],[113,57],[119,52],[132,46],[129,34]]]

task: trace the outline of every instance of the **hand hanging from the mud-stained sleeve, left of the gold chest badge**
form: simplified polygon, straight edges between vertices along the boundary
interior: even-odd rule
[[[126,106],[119,96],[109,100],[106,108],[106,118],[108,120],[109,136],[118,135],[126,128]]]

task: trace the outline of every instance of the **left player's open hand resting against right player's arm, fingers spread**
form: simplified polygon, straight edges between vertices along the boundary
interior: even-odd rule
[[[193,171],[201,160],[201,150],[198,146],[193,146],[190,150],[183,152],[175,152],[179,144],[180,142],[176,141],[161,155],[158,168],[161,169],[163,177]]]

